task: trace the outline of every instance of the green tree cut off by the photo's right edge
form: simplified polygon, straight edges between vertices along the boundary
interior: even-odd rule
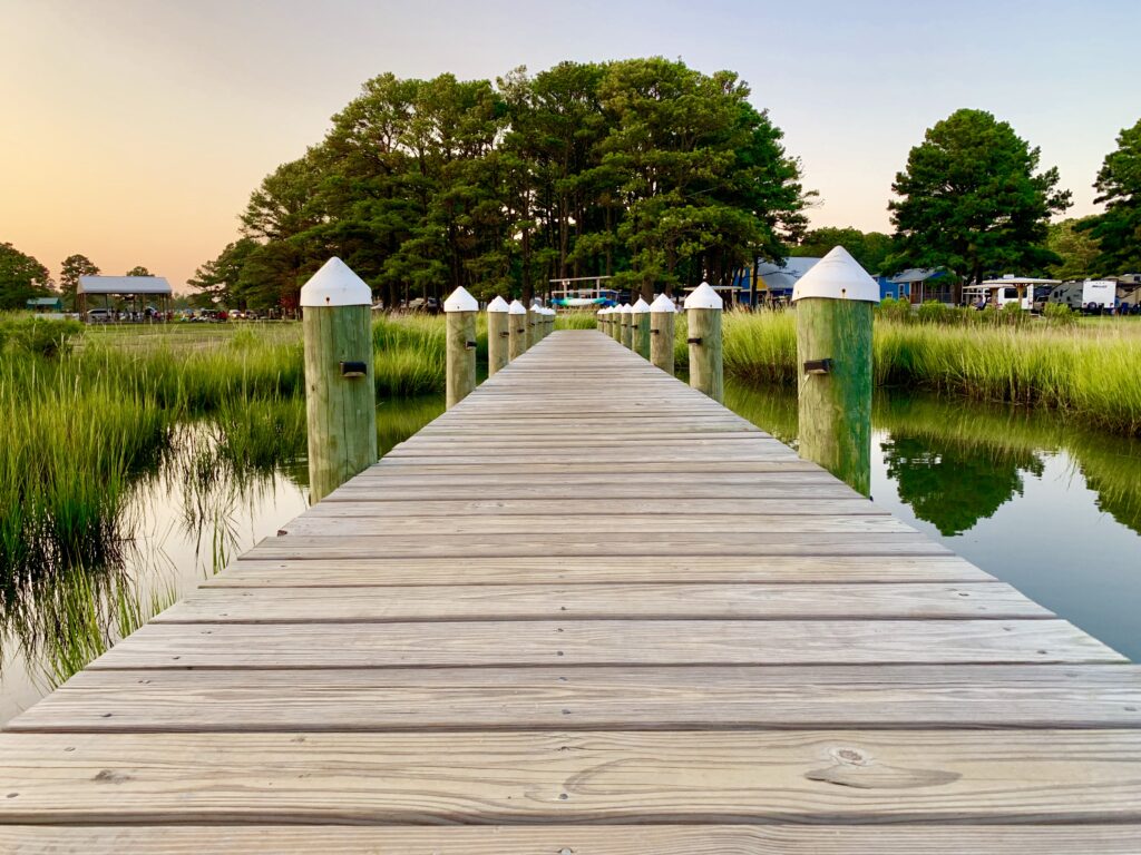
[[[1106,212],[1079,228],[1098,242],[1097,271],[1141,271],[1141,120],[1117,135],[1117,148],[1106,155],[1093,187]]]

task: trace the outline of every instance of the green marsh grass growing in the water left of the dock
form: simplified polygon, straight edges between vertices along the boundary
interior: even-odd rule
[[[375,323],[382,401],[443,389],[444,329],[442,317]],[[306,455],[299,324],[60,331],[75,332],[0,317],[0,628],[54,682],[173,597],[138,593],[123,571],[160,560],[137,554],[140,488],[173,495],[163,479],[177,480],[180,527],[218,570],[238,503]],[[479,337],[486,353],[483,324]],[[382,448],[443,404],[415,409],[378,420]]]

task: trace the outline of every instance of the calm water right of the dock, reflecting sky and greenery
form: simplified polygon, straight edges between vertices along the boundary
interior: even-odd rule
[[[795,398],[726,404],[795,445]],[[881,396],[872,497],[1031,600],[1141,661],[1141,442],[1054,414]]]

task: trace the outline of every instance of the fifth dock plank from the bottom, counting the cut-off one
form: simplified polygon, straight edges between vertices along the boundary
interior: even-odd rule
[[[193,592],[177,622],[583,620],[592,618],[1049,618],[1009,585],[399,585]]]

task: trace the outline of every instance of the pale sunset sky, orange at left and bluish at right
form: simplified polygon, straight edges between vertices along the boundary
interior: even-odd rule
[[[960,107],[1041,146],[1069,215],[1097,210],[1098,168],[1141,117],[1139,0],[0,0],[0,242],[56,276],[79,252],[176,288],[235,239],[261,178],[388,71],[730,68],[819,192],[814,225],[885,231],[908,149]]]

